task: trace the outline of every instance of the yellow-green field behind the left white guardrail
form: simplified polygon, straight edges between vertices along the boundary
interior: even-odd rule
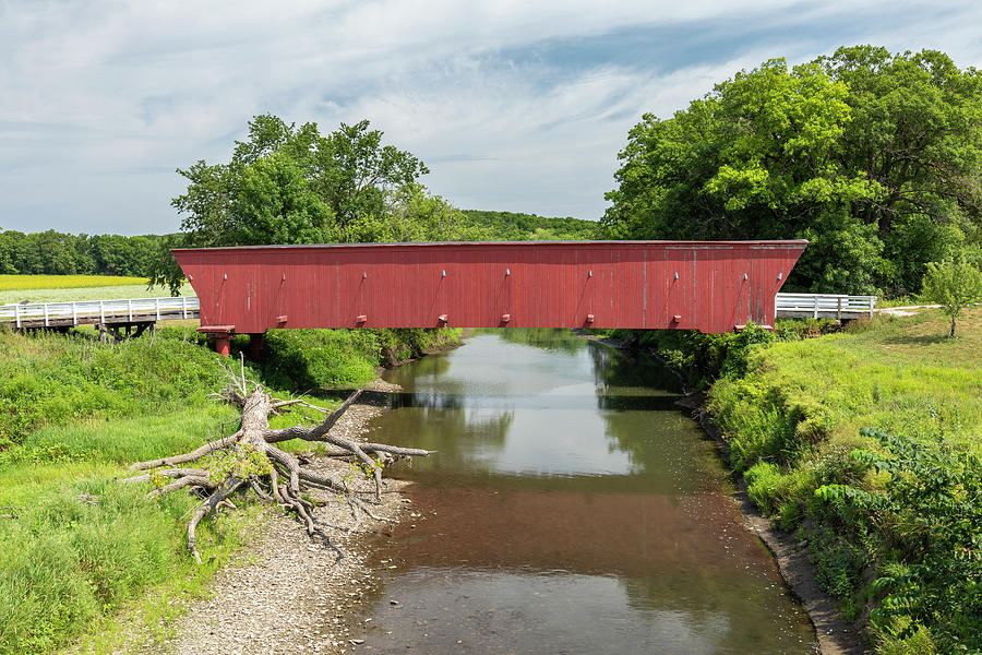
[[[44,278],[37,281],[38,286],[11,286],[20,278]],[[71,282],[74,286],[59,286],[61,282]],[[0,305],[8,302],[70,302],[72,300],[121,300],[125,298],[166,298],[170,296],[167,287],[146,288],[146,279],[141,277],[109,277],[95,275],[0,275],[0,278],[12,278],[3,286],[0,281]],[[53,278],[53,281],[52,281]],[[51,282],[49,282],[51,281]],[[99,281],[107,284],[87,284]],[[50,286],[41,286],[49,284]],[[181,296],[193,296],[194,289],[184,283]]]

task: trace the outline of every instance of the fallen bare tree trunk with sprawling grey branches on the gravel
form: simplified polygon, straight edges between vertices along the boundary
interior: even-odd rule
[[[355,463],[354,468],[374,479],[375,503],[382,498],[384,466],[414,455],[430,454],[430,451],[421,449],[384,443],[359,443],[331,434],[331,428],[358,400],[361,391],[351,394],[319,425],[312,427],[297,425],[274,430],[270,428],[270,416],[288,412],[291,406],[303,402],[277,401],[258,384],[249,392],[244,377],[236,382],[238,389],[230,388],[221,394],[216,394],[242,409],[240,427],[233,434],[211,441],[190,453],[133,464],[131,471],[148,473],[122,480],[153,483],[155,489],[147,495],[148,497],[190,488],[202,498],[188,523],[188,549],[199,562],[201,553],[195,541],[197,524],[219,505],[230,504],[228,499],[236,491],[252,490],[262,500],[275,502],[295,512],[311,536],[319,532],[319,526],[312,516],[313,504],[301,497],[301,492],[309,488],[327,489],[343,497],[355,514],[356,521],[360,520],[362,513],[381,520],[371,511],[371,502],[358,496],[352,476],[335,477],[304,468],[295,455],[276,448],[275,443],[301,439],[330,444],[331,449],[326,456],[348,458]],[[195,462],[200,463],[200,467],[181,466]],[[327,538],[326,534],[323,532],[321,534]]]

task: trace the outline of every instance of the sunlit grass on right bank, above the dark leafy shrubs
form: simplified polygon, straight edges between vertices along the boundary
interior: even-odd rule
[[[747,462],[780,460],[812,444],[851,444],[873,427],[982,454],[982,309],[966,311],[960,338],[946,336],[937,311],[854,323],[821,338],[769,344],[755,353],[754,376],[723,379],[711,408],[724,430],[750,434]],[[793,433],[765,443],[765,424],[782,410]],[[782,428],[783,429],[783,428]],[[739,453],[744,443],[738,442]],[[746,445],[752,445],[747,442]]]

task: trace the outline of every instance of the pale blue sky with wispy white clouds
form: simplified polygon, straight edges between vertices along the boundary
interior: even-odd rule
[[[0,228],[176,231],[248,121],[368,119],[462,209],[596,219],[645,112],[839,46],[982,68],[982,2],[0,0]]]

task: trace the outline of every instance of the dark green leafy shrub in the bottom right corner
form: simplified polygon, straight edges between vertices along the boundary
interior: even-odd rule
[[[879,474],[882,486],[827,485],[825,500],[845,499],[889,539],[896,564],[874,583],[882,594],[872,619],[905,624],[897,636],[930,626],[941,652],[982,648],[982,462],[967,453],[863,430],[885,453],[852,458]]]

